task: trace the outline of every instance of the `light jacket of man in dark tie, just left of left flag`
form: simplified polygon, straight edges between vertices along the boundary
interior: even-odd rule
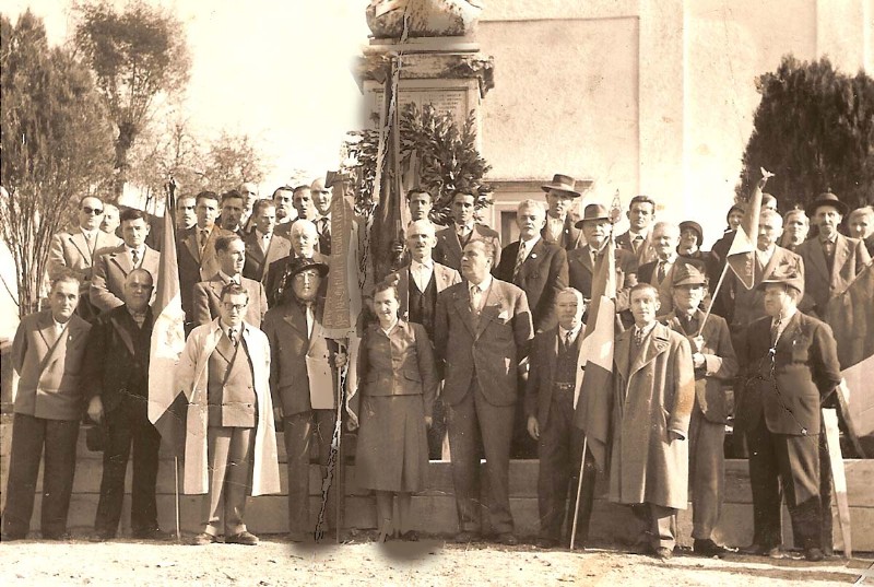
[[[152,274],[152,281],[157,285],[157,268],[161,263],[161,254],[151,247],[145,247],[140,267]],[[128,248],[122,244],[97,256],[94,261],[94,277],[91,280],[88,298],[102,313],[107,313],[125,303],[125,280],[133,271],[133,262]],[[152,287],[152,300],[155,301],[157,287]]]

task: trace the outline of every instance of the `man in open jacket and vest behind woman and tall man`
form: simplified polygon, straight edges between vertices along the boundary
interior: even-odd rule
[[[417,195],[414,193],[413,198],[417,198]],[[406,250],[410,251],[410,262],[394,272],[400,317],[424,326],[432,342],[434,342],[437,296],[450,285],[461,281],[458,271],[432,259],[432,250],[436,243],[434,224],[429,220],[411,222],[406,227]],[[442,400],[437,397],[434,401],[432,426],[428,428],[429,458],[448,460],[448,444],[447,450],[444,450],[445,436],[446,411]]]

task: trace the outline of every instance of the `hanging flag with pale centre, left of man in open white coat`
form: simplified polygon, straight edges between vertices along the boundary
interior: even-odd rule
[[[149,421],[162,442],[178,457],[185,455],[185,425],[188,400],[176,388],[176,367],[185,349],[185,313],[179,294],[179,265],[176,257],[176,231],[172,210],[173,193],[164,210],[164,236],[157,272],[149,362]]]

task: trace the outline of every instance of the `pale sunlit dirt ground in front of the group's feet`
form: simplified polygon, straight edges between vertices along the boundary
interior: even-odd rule
[[[118,540],[92,543],[16,541],[0,544],[0,585],[285,586],[583,585],[745,587],[874,585],[874,556],[725,560],[676,555],[669,562],[613,550],[541,551],[530,545],[459,547],[444,541],[258,547]],[[864,575],[870,575],[863,577]]]

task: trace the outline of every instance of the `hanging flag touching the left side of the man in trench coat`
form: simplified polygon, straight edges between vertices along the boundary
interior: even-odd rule
[[[604,248],[595,262],[574,395],[574,424],[586,432],[589,450],[602,471],[606,466],[616,333],[616,253],[612,238]]]

